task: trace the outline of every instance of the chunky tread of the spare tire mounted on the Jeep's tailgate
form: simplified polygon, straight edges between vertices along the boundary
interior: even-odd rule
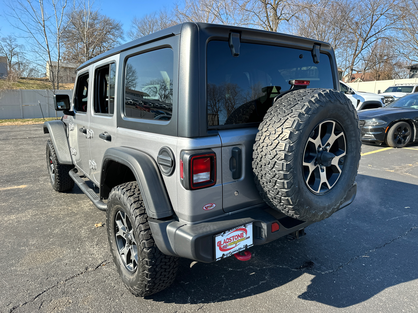
[[[360,133],[357,112],[349,99],[338,91],[323,88],[301,89],[284,95],[268,109],[258,127],[252,162],[255,184],[270,207],[290,217],[315,222],[323,220],[336,212],[347,197],[346,193],[329,212],[320,212],[319,206],[309,207],[295,196],[297,187],[294,181],[294,160],[303,127],[308,116],[315,114],[329,100],[339,100],[347,105],[349,111],[356,116],[356,126]],[[356,146],[361,147],[360,137],[353,140],[357,141]]]

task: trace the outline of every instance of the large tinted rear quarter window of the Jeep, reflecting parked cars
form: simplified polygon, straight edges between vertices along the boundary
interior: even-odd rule
[[[174,54],[171,48],[127,59],[125,115],[141,119],[171,119],[173,111]]]

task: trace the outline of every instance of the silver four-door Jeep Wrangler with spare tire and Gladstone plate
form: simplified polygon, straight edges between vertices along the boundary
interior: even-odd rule
[[[357,113],[328,43],[184,23],[77,69],[55,95],[46,161],[107,214],[117,271],[135,295],[168,287],[178,257],[249,260],[350,204]],[[99,194],[87,186],[87,178]],[[90,184],[90,183],[89,183]]]

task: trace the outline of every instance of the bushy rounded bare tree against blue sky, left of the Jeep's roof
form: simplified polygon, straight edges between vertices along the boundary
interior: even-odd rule
[[[122,24],[117,20],[92,10],[89,0],[82,9],[68,12],[69,24],[63,35],[65,52],[63,60],[81,64],[107,50],[120,45],[123,39]]]

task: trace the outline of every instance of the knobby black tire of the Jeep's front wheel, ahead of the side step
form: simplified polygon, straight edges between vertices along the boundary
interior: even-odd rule
[[[65,192],[74,188],[74,180],[69,175],[69,171],[74,168],[74,165],[60,164],[58,162],[58,157],[56,156],[54,144],[51,139],[48,139],[46,143],[46,160],[48,165],[48,176],[49,176],[49,157],[48,151],[50,151],[52,156],[52,162],[55,167],[55,182],[52,184],[52,187],[57,192]],[[51,179],[51,177],[50,177]]]

